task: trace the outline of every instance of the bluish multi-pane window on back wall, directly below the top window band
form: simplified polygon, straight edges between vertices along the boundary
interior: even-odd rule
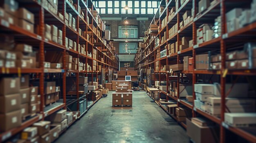
[[[128,33],[125,35],[124,33]],[[138,38],[138,26],[136,25],[119,25],[118,26],[118,37],[119,38]]]

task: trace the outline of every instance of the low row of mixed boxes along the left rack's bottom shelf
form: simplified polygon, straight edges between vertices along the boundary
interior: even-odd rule
[[[45,121],[34,123],[20,134],[20,141],[25,143],[52,143],[77,119],[77,114],[60,110],[45,118]]]

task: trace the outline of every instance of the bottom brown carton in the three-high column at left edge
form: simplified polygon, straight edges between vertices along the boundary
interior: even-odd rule
[[[21,125],[21,112],[16,110],[6,114],[0,114],[0,132],[5,132]]]

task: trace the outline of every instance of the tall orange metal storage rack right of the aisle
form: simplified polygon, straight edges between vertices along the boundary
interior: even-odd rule
[[[220,127],[220,142],[224,143],[227,141],[227,132],[231,131],[237,136],[240,136],[244,138],[245,140],[249,142],[255,142],[256,141],[256,134],[253,133],[253,130],[255,128],[235,128],[230,125],[227,125],[224,122],[224,114],[225,114],[225,95],[227,94],[225,92],[225,84],[228,80],[227,77],[239,77],[239,76],[245,76],[246,78],[254,77],[256,75],[255,69],[245,69],[245,70],[228,70],[226,68],[226,52],[227,51],[234,51],[234,47],[242,47],[245,42],[252,42],[255,41],[255,35],[252,33],[255,33],[256,29],[256,22],[252,22],[251,24],[248,24],[244,26],[243,28],[240,28],[238,30],[227,32],[227,24],[226,24],[226,12],[230,11],[234,8],[249,8],[250,9],[250,3],[252,0],[246,0],[246,1],[232,1],[232,0],[215,0],[216,3],[208,7],[205,11],[203,11],[200,14],[197,14],[198,9],[198,0],[184,0],[184,3],[180,5],[177,9],[175,14],[169,18],[168,11],[172,7],[175,7],[175,1],[176,0],[162,0],[160,7],[164,7],[162,13],[158,12],[155,14],[155,17],[151,24],[158,24],[160,26],[160,30],[158,31],[156,37],[159,37],[161,39],[161,36],[164,35],[164,32],[166,31],[167,34],[167,40],[163,43],[159,43],[159,46],[155,47],[155,38],[153,35],[148,34],[144,37],[144,44],[146,44],[144,47],[139,47],[137,51],[137,55],[135,56],[135,68],[137,70],[147,70],[149,68],[155,69],[155,62],[160,61],[160,63],[164,65],[169,64],[180,64],[182,63],[182,59],[184,56],[191,56],[193,57],[193,70],[186,70],[186,71],[176,71],[174,72],[177,76],[171,76],[168,71],[155,71],[154,77],[151,79],[154,84],[154,81],[156,78],[158,80],[165,80],[167,82],[167,89],[168,89],[168,81],[170,78],[176,78],[177,81],[177,97],[170,94],[169,90],[167,92],[160,90],[163,94],[166,95],[166,100],[173,99],[177,101],[178,106],[186,106],[191,109],[193,117],[197,117],[198,115],[204,116],[211,121],[215,122]],[[179,0],[178,0],[179,1]],[[180,29],[180,22],[182,15],[186,10],[191,10],[193,15],[193,20],[190,21],[186,26],[183,26],[182,29]],[[166,12],[167,11],[167,12]],[[161,27],[162,20],[167,15],[167,24],[164,27]],[[207,42],[203,42],[201,44],[197,44],[197,29],[201,24],[204,24],[205,22],[212,22],[214,23],[214,19],[218,16],[221,16],[221,35],[217,38],[214,38],[212,40],[209,40]],[[178,31],[176,34],[174,34],[171,37],[168,37],[168,30],[175,24],[178,24]],[[148,29],[149,31],[149,29]],[[167,56],[162,58],[157,58],[156,51],[164,48],[167,44],[175,43],[176,41],[181,41],[181,37],[183,36],[190,36],[193,37],[193,46],[186,48],[181,51],[176,51],[176,53],[168,53],[167,50]],[[161,41],[161,40],[160,40]],[[178,42],[178,47],[180,46],[180,43]],[[195,69],[195,56],[202,53],[208,53],[208,51],[215,51],[216,53],[220,53],[221,55],[221,69],[220,70],[196,70]],[[179,84],[180,79],[182,79],[183,75],[189,75],[192,77],[192,85],[193,85],[193,100],[195,100],[195,92],[194,92],[194,84],[197,82],[198,76],[205,76],[205,75],[212,75],[217,76],[220,85],[221,85],[221,115],[220,118],[215,117],[211,114],[208,114],[207,112],[204,112],[198,108],[195,108],[194,103],[186,102],[182,99],[180,99],[179,93]],[[236,81],[233,83],[233,85],[236,83]],[[143,81],[141,80],[141,85],[143,84]],[[146,83],[144,83],[146,84]],[[153,86],[153,85],[152,85]],[[143,88],[143,87],[141,87]],[[254,87],[255,88],[255,87]],[[231,89],[229,89],[231,90]],[[167,111],[167,109],[164,106],[161,106],[164,110]],[[171,114],[170,114],[171,115]],[[177,120],[175,116],[172,116],[174,119]],[[179,122],[179,121],[177,121]],[[186,128],[186,123],[179,122],[184,128]]]

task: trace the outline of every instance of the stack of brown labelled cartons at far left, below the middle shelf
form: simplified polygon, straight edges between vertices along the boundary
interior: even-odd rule
[[[29,75],[0,79],[0,132],[21,125],[26,117],[40,111],[38,87],[29,87]]]

